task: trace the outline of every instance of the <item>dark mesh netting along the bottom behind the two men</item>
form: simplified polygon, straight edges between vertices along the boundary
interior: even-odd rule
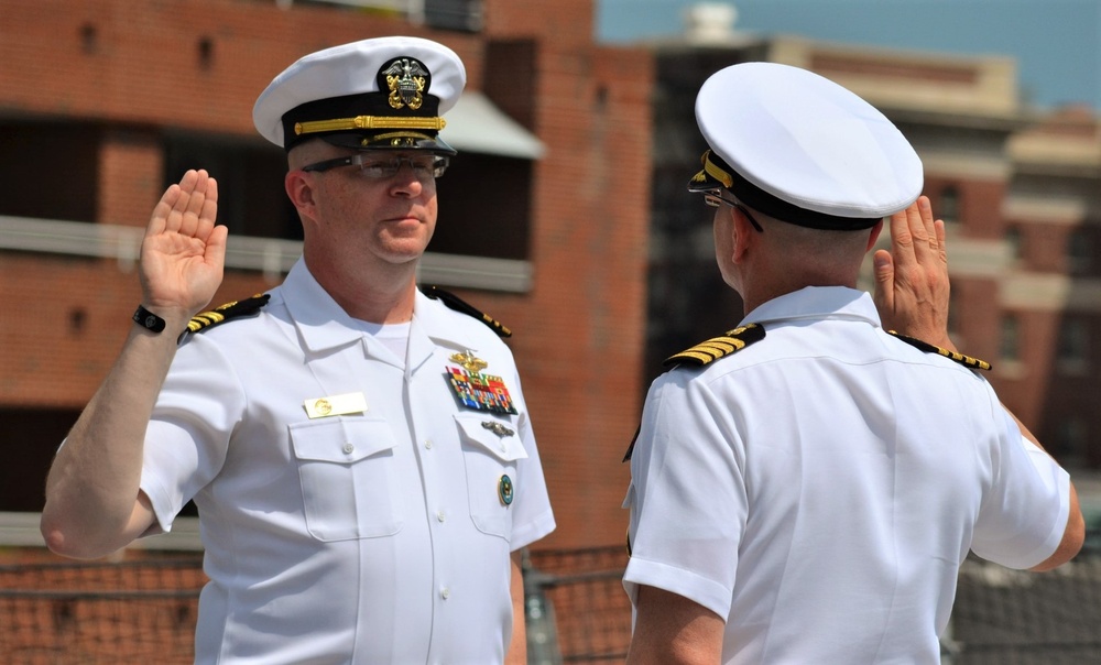
[[[143,550],[119,563],[46,557],[0,565],[4,663],[190,663],[198,553]],[[527,553],[528,663],[622,662],[631,608],[623,547]],[[946,636],[951,665],[1101,663],[1101,557],[1045,574],[969,559]]]

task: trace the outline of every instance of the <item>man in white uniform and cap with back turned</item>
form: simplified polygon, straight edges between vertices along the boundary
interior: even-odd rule
[[[944,224],[885,117],[770,63],[712,75],[696,117],[709,150],[689,188],[744,318],[646,397],[628,662],[939,663],[968,552],[1069,560],[1073,486],[948,340]],[[855,286],[886,216],[873,302]]]

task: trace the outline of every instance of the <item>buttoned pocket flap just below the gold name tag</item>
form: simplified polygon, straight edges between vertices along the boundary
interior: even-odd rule
[[[385,421],[325,418],[291,425],[291,445],[298,459],[351,464],[397,445]]]

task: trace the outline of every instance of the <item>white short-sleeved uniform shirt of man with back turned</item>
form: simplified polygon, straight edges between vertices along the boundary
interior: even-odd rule
[[[631,459],[624,586],[724,618],[728,664],[939,663],[972,548],[1058,546],[1068,476],[975,372],[889,336],[866,293],[805,288],[764,339],[659,377]]]

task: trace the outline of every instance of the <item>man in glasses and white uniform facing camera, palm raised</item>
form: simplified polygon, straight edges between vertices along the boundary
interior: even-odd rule
[[[99,557],[194,500],[197,663],[524,662],[519,553],[555,522],[508,329],[415,282],[465,83],[416,37],[272,80],[253,119],[286,150],[304,242],[265,294],[201,313],[226,250],[205,171],[153,210],[135,325],[57,454],[42,532]]]

